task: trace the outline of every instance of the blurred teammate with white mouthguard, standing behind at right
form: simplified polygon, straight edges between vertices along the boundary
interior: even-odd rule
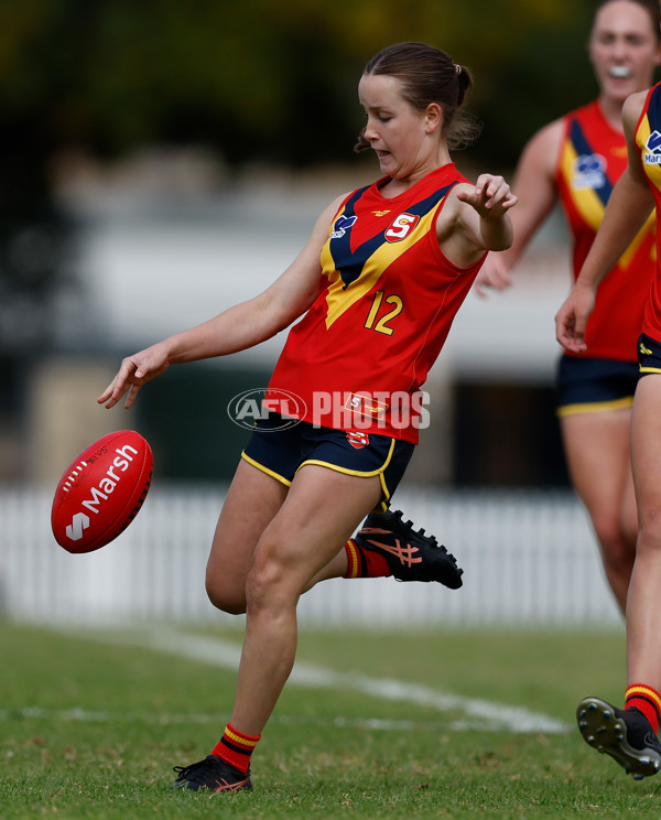
[[[510,270],[560,201],[573,238],[574,279],[594,241],[613,185],[627,166],[621,108],[652,83],[661,62],[657,0],[602,0],[588,51],[599,96],[542,128],[514,173],[519,206],[514,241],[494,253],[477,287],[510,284]],[[644,228],[599,289],[587,326],[587,350],[565,352],[557,368],[557,416],[568,473],[599,543],[620,611],[636,553],[637,512],[629,431],[638,380],[636,341],[654,269],[655,222]],[[617,320],[615,319],[617,311]]]

